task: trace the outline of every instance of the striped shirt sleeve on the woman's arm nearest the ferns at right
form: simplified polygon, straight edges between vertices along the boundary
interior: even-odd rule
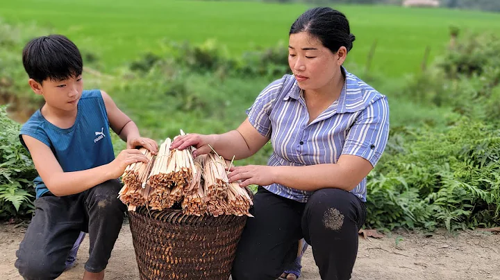
[[[342,155],[357,155],[375,166],[389,137],[389,104],[383,96],[368,105],[353,123]]]

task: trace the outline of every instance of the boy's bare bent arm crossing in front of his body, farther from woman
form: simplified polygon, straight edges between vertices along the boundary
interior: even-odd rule
[[[56,196],[81,193],[102,182],[120,177],[129,164],[148,161],[147,157],[142,155],[139,150],[123,150],[109,164],[88,170],[64,172],[47,145],[28,135],[22,135],[22,137],[31,154],[38,175],[42,177],[47,189]]]

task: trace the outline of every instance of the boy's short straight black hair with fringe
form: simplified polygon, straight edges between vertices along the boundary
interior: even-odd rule
[[[83,61],[76,45],[63,35],[37,37],[23,49],[23,65],[29,78],[40,82],[80,76]]]

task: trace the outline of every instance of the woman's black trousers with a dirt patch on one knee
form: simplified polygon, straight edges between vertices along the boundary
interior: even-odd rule
[[[358,229],[365,203],[340,189],[315,191],[307,203],[275,195],[259,186],[244,228],[231,276],[233,280],[274,280],[297,258],[298,242],[313,247],[324,280],[347,280],[358,253]]]

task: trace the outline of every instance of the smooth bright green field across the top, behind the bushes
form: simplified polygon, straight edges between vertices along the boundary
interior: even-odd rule
[[[6,3],[5,3],[6,2]],[[288,42],[290,25],[303,4],[172,0],[3,1],[0,17],[36,22],[97,53],[106,69],[146,51],[160,52],[165,40],[201,43],[215,39],[231,55]],[[348,61],[364,65],[377,41],[372,70],[391,77],[418,71],[426,46],[429,61],[444,51],[449,26],[500,31],[500,14],[386,6],[339,6],[357,37]],[[40,34],[42,35],[42,34]]]

